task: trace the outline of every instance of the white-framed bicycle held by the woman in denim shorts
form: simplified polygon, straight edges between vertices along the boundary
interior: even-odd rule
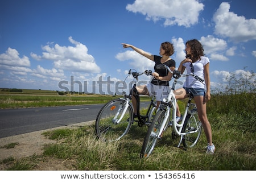
[[[176,123],[176,98],[174,94],[175,86],[178,78],[181,76],[193,76],[197,80],[204,82],[202,78],[196,76],[194,73],[188,75],[181,75],[179,71],[172,72],[170,68],[166,65],[158,65],[159,67],[166,68],[169,72],[173,73],[175,78],[170,92],[167,98],[164,98],[161,102],[158,111],[156,112],[154,120],[151,122],[150,127],[148,127],[146,137],[144,138],[141,158],[148,158],[158,139],[161,139],[163,132],[167,129],[170,121],[170,115],[172,118],[172,139],[180,136],[180,142],[177,147],[180,147],[181,143],[185,148],[193,147],[197,143],[201,135],[201,122],[197,115],[197,108],[195,104],[191,103],[193,98],[192,93],[189,92],[187,106],[183,114],[183,118],[180,122]],[[171,114],[170,114],[171,113]]]

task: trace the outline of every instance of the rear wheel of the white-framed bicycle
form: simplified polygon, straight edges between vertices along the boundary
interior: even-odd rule
[[[183,135],[183,146],[184,147],[193,147],[197,143],[200,138],[202,125],[199,121],[199,117],[197,114],[197,109],[193,109],[191,111],[192,114],[188,114],[184,121],[184,126],[182,129],[182,133],[186,133]],[[196,132],[193,132],[196,131]],[[189,133],[192,132],[192,133]]]

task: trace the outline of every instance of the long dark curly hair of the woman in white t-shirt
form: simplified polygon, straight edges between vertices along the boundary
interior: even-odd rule
[[[197,60],[201,60],[200,56],[204,56],[203,45],[196,39],[188,40],[186,42],[186,45],[187,44],[189,47],[191,47],[191,54],[192,54],[191,60],[193,62],[195,62]]]

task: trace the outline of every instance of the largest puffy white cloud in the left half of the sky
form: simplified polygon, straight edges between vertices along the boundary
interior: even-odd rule
[[[44,46],[42,49],[42,56],[38,56],[35,53],[30,55],[36,59],[47,59],[54,61],[55,68],[69,70],[69,71],[79,71],[79,72],[100,72],[100,67],[96,64],[94,57],[88,54],[88,48],[72,37],[69,37],[69,42],[75,44],[72,46],[59,46],[55,44],[54,47],[49,45]]]

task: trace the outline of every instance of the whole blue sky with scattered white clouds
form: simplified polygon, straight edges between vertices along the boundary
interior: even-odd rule
[[[0,88],[120,93],[129,69],[154,71],[153,61],[121,43],[159,55],[171,42],[178,67],[191,39],[203,44],[218,88],[232,73],[256,72],[255,7],[253,0],[1,0]]]

